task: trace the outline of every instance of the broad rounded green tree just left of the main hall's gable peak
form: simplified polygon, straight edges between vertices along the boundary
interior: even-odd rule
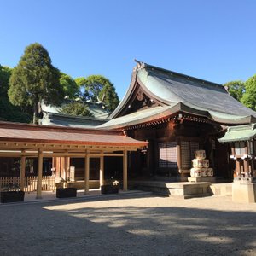
[[[75,79],[83,92],[82,98],[92,102],[102,103],[109,111],[113,111],[119,104],[119,96],[114,85],[102,75],[91,75],[87,78]]]

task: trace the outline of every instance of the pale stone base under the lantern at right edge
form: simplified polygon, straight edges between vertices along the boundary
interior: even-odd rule
[[[255,203],[256,183],[237,180],[232,183],[232,201]]]

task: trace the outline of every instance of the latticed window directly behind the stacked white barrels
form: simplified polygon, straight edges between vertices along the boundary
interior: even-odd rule
[[[191,168],[191,161],[195,158],[195,150],[199,150],[198,142],[181,142],[182,168]]]

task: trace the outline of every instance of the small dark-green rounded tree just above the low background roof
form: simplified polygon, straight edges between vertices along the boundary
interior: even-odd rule
[[[87,104],[84,102],[70,102],[61,108],[61,113],[76,116],[93,116],[93,114],[90,113],[90,109],[88,108]]]

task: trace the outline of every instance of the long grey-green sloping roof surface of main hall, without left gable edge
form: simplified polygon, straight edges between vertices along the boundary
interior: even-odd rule
[[[237,102],[221,84],[186,77],[172,72],[162,72],[153,67],[138,70],[139,79],[148,90],[163,102],[183,102],[195,108],[220,113],[254,115],[256,113]]]

